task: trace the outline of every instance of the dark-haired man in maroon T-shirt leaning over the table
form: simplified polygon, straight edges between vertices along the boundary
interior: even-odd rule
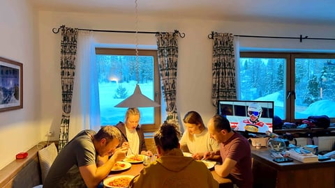
[[[208,131],[211,138],[220,145],[220,150],[204,154],[205,159],[221,155],[223,162],[214,167],[216,173],[223,178],[230,178],[239,188],[253,187],[251,148],[248,140],[232,131],[229,121],[220,115],[209,120]]]

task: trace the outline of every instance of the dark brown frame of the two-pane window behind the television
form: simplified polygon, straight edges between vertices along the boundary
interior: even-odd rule
[[[302,53],[302,52],[240,52],[240,58],[285,58],[286,77],[284,83],[285,89],[285,120],[286,122],[298,122],[301,119],[295,118],[295,58],[335,58],[333,53]],[[237,69],[239,70],[239,68]],[[239,74],[239,72],[237,72]],[[287,98],[288,93],[291,95]],[[240,92],[240,91],[238,91]],[[276,115],[276,114],[274,114]],[[330,118],[330,117],[329,117]],[[335,118],[330,118],[335,122]]]

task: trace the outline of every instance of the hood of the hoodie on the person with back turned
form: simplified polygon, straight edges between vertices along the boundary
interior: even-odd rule
[[[156,160],[157,164],[161,164],[165,169],[173,172],[185,169],[193,161],[192,157],[184,157],[180,149],[173,149],[168,155],[161,156]]]

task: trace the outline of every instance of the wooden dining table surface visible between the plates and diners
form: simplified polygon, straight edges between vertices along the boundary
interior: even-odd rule
[[[140,164],[131,164],[131,169],[121,172],[111,172],[108,176],[115,176],[115,175],[138,175],[140,171],[144,168],[142,163]],[[213,175],[214,179],[218,182],[219,188],[232,188],[232,181],[228,178],[221,178],[218,174],[212,170],[211,174]]]

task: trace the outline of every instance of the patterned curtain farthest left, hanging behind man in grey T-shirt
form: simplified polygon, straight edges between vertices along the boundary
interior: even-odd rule
[[[77,53],[78,29],[63,27],[61,30],[61,99],[63,113],[59,130],[60,151],[68,143],[68,125],[75,79],[75,57]]]

